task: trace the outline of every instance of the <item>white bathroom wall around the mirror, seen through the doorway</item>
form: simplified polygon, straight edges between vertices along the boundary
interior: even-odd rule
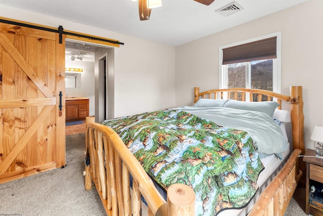
[[[81,88],[66,88],[68,97],[89,98],[89,115],[94,115],[94,62],[65,60],[65,67],[83,68]]]

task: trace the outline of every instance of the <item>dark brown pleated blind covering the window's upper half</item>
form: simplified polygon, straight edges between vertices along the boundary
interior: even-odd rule
[[[277,37],[261,39],[247,44],[223,49],[223,65],[250,62],[264,59],[275,59]]]

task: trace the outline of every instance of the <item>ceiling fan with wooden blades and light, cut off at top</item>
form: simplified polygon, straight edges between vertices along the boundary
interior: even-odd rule
[[[131,0],[132,2],[139,2],[139,18],[140,20],[149,20],[152,8],[161,7],[161,0]],[[210,5],[214,0],[194,0],[203,5]]]

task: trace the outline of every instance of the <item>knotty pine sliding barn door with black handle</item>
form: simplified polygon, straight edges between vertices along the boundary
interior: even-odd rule
[[[55,32],[0,23],[0,183],[65,165],[62,42]]]

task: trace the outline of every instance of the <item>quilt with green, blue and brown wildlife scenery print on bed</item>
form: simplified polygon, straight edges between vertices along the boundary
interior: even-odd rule
[[[148,175],[167,190],[175,183],[195,192],[196,215],[241,208],[254,196],[263,165],[249,134],[182,110],[105,120]]]

